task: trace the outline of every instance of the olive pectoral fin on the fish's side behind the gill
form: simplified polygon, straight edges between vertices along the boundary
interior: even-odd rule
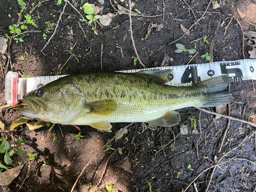
[[[116,110],[117,103],[114,100],[105,99],[84,104],[83,107],[88,110],[88,113],[95,115],[109,115]]]

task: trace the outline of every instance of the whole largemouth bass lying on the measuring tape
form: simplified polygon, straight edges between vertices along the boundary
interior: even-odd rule
[[[177,109],[230,103],[227,76],[191,87],[167,86],[172,70],[139,73],[88,72],[62,77],[23,96],[18,112],[59,124],[90,125],[110,132],[114,122],[173,126]]]

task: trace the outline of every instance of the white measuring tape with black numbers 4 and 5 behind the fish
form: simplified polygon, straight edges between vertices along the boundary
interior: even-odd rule
[[[168,76],[169,86],[192,86],[193,84],[223,74],[228,74],[228,81],[256,80],[256,59],[243,59],[235,61],[217,61],[203,64],[191,64],[185,66],[167,66],[147,69],[135,69],[118,71],[123,73],[136,73],[140,71],[173,70],[173,74]],[[60,77],[40,76],[29,78],[18,78],[18,73],[8,72],[5,82],[5,99],[8,104],[16,105],[23,95],[35,90],[45,84],[52,82]]]

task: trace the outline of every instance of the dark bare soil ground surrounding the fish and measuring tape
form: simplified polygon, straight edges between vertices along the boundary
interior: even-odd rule
[[[6,62],[3,65],[5,73],[13,70],[36,77],[100,71],[101,46],[102,71],[143,68],[138,61],[134,65],[132,58],[136,55],[131,40],[128,14],[116,14],[110,26],[101,27],[98,23],[93,23],[96,35],[92,26],[79,20],[82,19],[79,13],[83,17],[86,16],[81,9],[85,1],[70,1],[79,13],[67,3],[58,26],[59,15],[66,2],[60,5],[57,5],[57,1],[51,0],[25,0],[24,2],[27,4],[24,15],[31,13],[31,18],[38,26],[36,28],[28,25],[28,30],[40,32],[20,35],[23,42],[12,41],[10,45],[12,66],[9,65],[7,69]],[[115,14],[117,11],[111,3],[118,9],[114,1],[106,0],[103,5],[98,1],[88,2],[103,8],[98,13],[99,15]],[[117,0],[117,3],[129,8],[127,0],[124,2]],[[159,67],[165,55],[172,57],[172,61],[167,63],[169,66],[186,65],[191,58],[189,54],[187,52],[176,53],[175,43],[170,45],[169,43],[184,34],[180,27],[181,24],[188,29],[194,24],[195,17],[199,19],[203,15],[209,1],[186,0],[187,5],[181,0],[142,0],[134,3],[133,11],[137,9],[147,15],[132,17],[133,38],[144,65],[147,68]],[[243,34],[237,20],[232,20],[225,37],[224,31],[232,16],[238,18],[244,31],[248,29],[255,31],[256,1],[219,0],[218,3],[220,4],[218,9],[213,9],[210,5],[204,17],[190,30],[190,34],[177,41],[188,49],[193,49],[196,42],[199,54],[190,63],[208,62],[205,58],[201,58],[201,55],[209,52],[209,44],[202,39],[205,35],[209,42],[215,38],[214,61],[243,59]],[[17,24],[17,13],[21,8],[16,0],[0,0],[0,5],[0,35],[11,36],[9,26]],[[239,17],[237,8],[246,14],[243,19]],[[53,23],[53,26],[49,27],[47,22]],[[146,37],[148,25],[151,22],[163,24],[164,27],[160,31],[153,28]],[[221,25],[217,30],[219,22]],[[41,52],[56,27],[55,35]],[[22,30],[22,32],[25,31]],[[44,34],[47,35],[46,39],[44,39]],[[246,58],[249,58],[248,50],[250,47],[245,43]],[[21,60],[20,56],[24,56],[24,60]],[[0,82],[0,104],[5,105],[2,75]],[[232,82],[230,90],[233,95],[230,115],[254,122],[256,100],[252,81]],[[215,108],[210,110],[215,111]],[[99,149],[110,141],[119,129],[129,123],[113,123],[112,133],[97,132],[90,126],[79,126],[81,135],[84,136],[80,140],[74,140],[74,136],[79,131],[72,126],[61,127],[64,137],[57,125],[51,133],[48,133],[49,127],[47,126],[30,131],[26,124],[12,133],[2,132],[1,135],[7,137],[11,143],[23,136],[24,140],[30,141],[22,145],[23,150],[32,154],[37,152],[38,155],[30,161],[30,165],[28,162],[25,164],[22,172],[9,186],[2,186],[0,190],[17,191],[19,186],[22,186],[19,191],[71,191],[81,170],[91,161],[73,191],[111,191],[106,188],[107,185],[112,187],[112,191],[114,189],[115,191],[183,191],[203,170],[215,165],[216,158],[220,158],[230,148],[237,146],[246,135],[255,129],[251,125],[231,120],[219,153],[227,119],[216,119],[215,115],[200,112],[195,108],[178,111],[181,114],[180,124],[188,125],[187,135],[180,134],[180,124],[171,128],[155,127],[155,129],[143,130],[141,123],[133,123],[127,127],[128,133],[121,139],[110,142],[109,145],[115,151],[109,149],[104,152]],[[7,109],[2,113],[1,121],[7,127],[18,118],[15,110]],[[189,117],[196,119],[198,134],[191,133],[193,125],[190,125]],[[211,168],[197,178],[195,181],[197,190],[205,191],[211,180],[208,191],[255,191],[256,164],[253,164],[256,162],[255,146],[254,136],[246,139],[221,162],[234,159],[219,165],[212,176]],[[118,147],[122,149],[122,154],[116,151]],[[91,160],[97,152],[96,157]],[[26,162],[28,156],[14,154],[12,159],[13,163],[9,166],[16,167],[18,162]],[[127,163],[127,160],[131,163],[132,173],[126,172],[119,166]],[[3,154],[0,155],[0,162],[4,164]],[[191,166],[190,169],[188,165]],[[27,174],[28,178],[23,184]],[[196,191],[196,189],[192,184],[187,191]]]

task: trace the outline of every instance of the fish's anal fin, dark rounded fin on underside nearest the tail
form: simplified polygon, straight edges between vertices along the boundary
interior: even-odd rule
[[[158,126],[174,126],[180,122],[180,114],[176,111],[169,111],[162,117],[147,122]]]

